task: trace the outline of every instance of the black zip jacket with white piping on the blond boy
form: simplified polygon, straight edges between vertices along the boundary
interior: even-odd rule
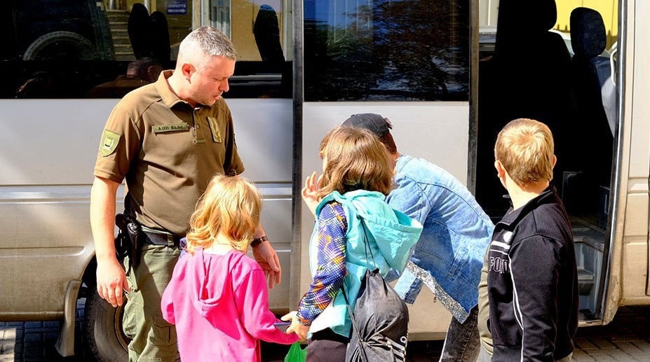
[[[487,262],[492,361],[568,356],[578,327],[578,272],[569,216],[553,186],[496,224]]]

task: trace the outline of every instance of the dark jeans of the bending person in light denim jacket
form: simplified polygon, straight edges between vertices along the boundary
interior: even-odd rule
[[[478,358],[481,343],[478,335],[478,306],[470,310],[465,323],[452,317],[442,346],[440,362],[474,362]]]

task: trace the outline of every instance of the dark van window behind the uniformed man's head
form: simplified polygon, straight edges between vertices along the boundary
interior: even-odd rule
[[[0,98],[116,98],[155,81],[162,69],[175,67],[195,2],[151,2],[151,11],[142,4],[108,8],[126,1],[4,2]],[[292,68],[281,44],[283,4],[205,1],[213,3],[206,23],[229,34],[238,50],[227,97],[291,97]]]

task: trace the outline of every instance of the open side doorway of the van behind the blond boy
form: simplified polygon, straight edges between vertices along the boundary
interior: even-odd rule
[[[540,120],[553,132],[552,184],[571,218],[586,320],[600,318],[618,130],[618,1],[593,3],[500,0],[494,51],[481,53],[478,88],[476,198],[494,221],[510,207],[494,176],[497,133],[516,118]]]

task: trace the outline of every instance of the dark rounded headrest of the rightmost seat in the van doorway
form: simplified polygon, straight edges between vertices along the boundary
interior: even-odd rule
[[[575,8],[571,11],[569,25],[576,56],[591,59],[605,50],[607,34],[600,13],[590,8]]]

